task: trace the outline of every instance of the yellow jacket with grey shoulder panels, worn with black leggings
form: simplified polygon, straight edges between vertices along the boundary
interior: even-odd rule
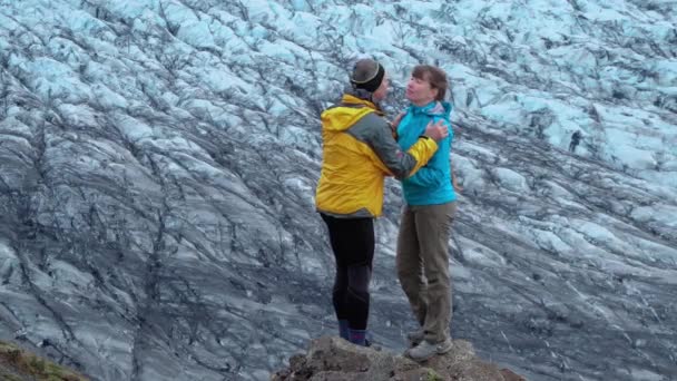
[[[384,176],[405,178],[434,155],[438,144],[420,138],[406,153],[392,136],[376,106],[344,95],[322,113],[323,157],[315,203],[338,217],[377,217]]]

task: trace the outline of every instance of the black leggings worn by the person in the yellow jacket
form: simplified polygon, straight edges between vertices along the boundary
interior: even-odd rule
[[[369,283],[374,260],[374,221],[335,218],[322,214],[330,231],[336,258],[332,301],[338,320],[347,320],[351,330],[366,330]]]

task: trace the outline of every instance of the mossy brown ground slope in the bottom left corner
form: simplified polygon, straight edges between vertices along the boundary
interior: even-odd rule
[[[33,377],[40,381],[88,381],[87,378],[53,362],[21,350],[14,344],[0,341],[0,361],[17,373]],[[0,374],[3,380],[20,380],[9,374]]]

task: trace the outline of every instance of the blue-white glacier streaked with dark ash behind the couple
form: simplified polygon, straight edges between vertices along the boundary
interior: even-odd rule
[[[391,117],[414,65],[450,77],[452,335],[530,380],[677,379],[671,0],[0,0],[0,339],[94,380],[267,380],[334,334],[318,117],[363,56]],[[389,179],[394,350],[401,206]]]

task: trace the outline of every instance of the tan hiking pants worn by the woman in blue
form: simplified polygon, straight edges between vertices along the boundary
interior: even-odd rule
[[[451,280],[449,237],[457,205],[406,205],[398,236],[398,277],[425,333],[438,343],[449,338]]]

